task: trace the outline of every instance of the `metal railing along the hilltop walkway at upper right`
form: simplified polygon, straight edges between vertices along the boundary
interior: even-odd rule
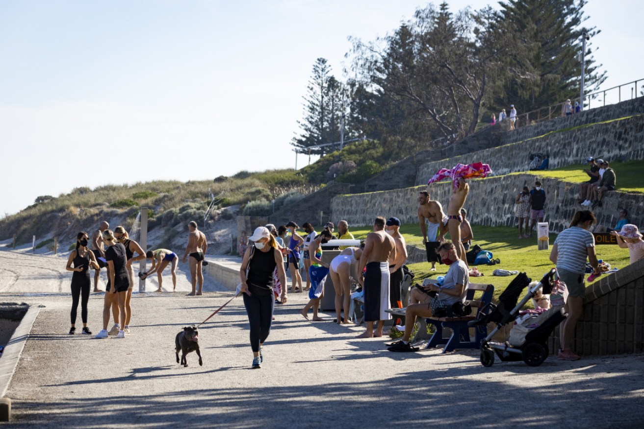
[[[638,84],[641,85],[638,89]],[[630,89],[630,91],[629,91]],[[639,91],[639,92],[638,92]],[[604,89],[603,91],[597,91],[596,93],[591,93],[583,97],[582,111],[589,111],[591,109],[596,109],[597,107],[603,107],[607,104],[617,104],[626,100],[632,100],[633,98],[638,98],[644,96],[644,78],[634,80],[627,84],[621,84],[619,86],[614,86],[609,89]],[[571,98],[571,104],[580,101],[580,97]],[[545,120],[559,118],[565,116],[564,113],[564,104],[566,100],[552,104],[547,107],[542,107],[527,113],[518,114],[516,116],[515,129],[517,127],[523,127],[525,125],[531,125],[533,123],[542,122]],[[509,113],[508,113],[509,119]]]

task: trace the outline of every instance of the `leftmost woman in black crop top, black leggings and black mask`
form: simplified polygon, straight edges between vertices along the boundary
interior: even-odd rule
[[[79,232],[76,236],[76,250],[72,250],[70,258],[67,260],[67,271],[73,271],[71,275],[71,329],[70,334],[76,333],[76,311],[79,307],[79,298],[81,301],[81,318],[82,333],[91,334],[87,327],[87,302],[90,299],[90,265],[99,269],[96,257],[91,250],[87,248],[89,235],[86,232]],[[74,264],[73,268],[71,264]]]

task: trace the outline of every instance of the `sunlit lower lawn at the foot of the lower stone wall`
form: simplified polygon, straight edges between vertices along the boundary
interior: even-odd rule
[[[507,284],[513,278],[493,276],[492,272],[495,269],[525,271],[528,277],[533,280],[539,280],[554,266],[549,260],[550,251],[537,250],[536,238],[518,239],[516,228],[472,225],[472,229],[475,237],[474,242],[484,250],[491,251],[495,258],[501,260],[501,264],[494,266],[479,265],[478,269],[484,274],[484,277],[472,277],[470,281],[493,284],[495,298],[506,289]],[[366,235],[371,232],[371,228],[352,228],[351,232],[355,238],[365,239]],[[422,235],[417,224],[405,224],[401,227],[401,232],[408,244],[422,246]],[[555,238],[556,235],[551,234],[551,248]],[[597,254],[599,259],[609,262],[613,267],[624,268],[629,264],[629,251],[620,249],[618,246],[597,246]],[[422,282],[424,278],[447,273],[447,267],[444,265],[437,266],[436,271],[430,271],[431,264],[428,262],[409,264],[409,267],[416,275],[415,282]]]

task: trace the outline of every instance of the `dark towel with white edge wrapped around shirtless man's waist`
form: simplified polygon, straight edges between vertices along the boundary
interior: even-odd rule
[[[377,322],[392,318],[386,312],[390,309],[389,264],[387,262],[366,264],[363,291],[365,291],[365,322]]]

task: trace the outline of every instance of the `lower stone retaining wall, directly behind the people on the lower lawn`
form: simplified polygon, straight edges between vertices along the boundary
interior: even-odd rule
[[[516,194],[527,185],[532,188],[535,182],[532,174],[513,174],[469,182],[470,192],[465,208],[472,224],[486,226],[513,226],[518,224],[514,214]],[[541,179],[547,194],[545,221],[550,230],[560,232],[570,224],[573,215],[582,206],[576,199],[579,185],[557,179]],[[369,194],[337,196],[331,202],[332,219],[346,219],[350,225],[371,225],[378,215],[395,216],[403,223],[417,223],[418,192],[426,190],[430,198],[438,200],[443,210],[450,201],[451,183],[442,181],[427,187],[411,187]],[[617,219],[617,208],[629,210],[630,222],[644,226],[644,196],[625,192],[608,192],[604,197],[603,207],[597,207],[594,213],[598,223],[614,226]]]

